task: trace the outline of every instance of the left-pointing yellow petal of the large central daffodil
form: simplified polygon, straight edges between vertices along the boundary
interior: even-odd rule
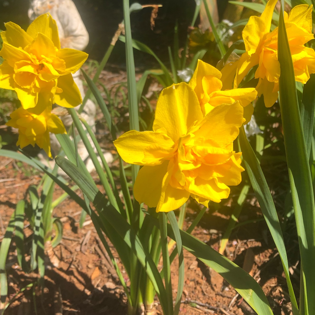
[[[136,165],[158,165],[174,152],[174,141],[165,129],[154,131],[131,130],[114,141],[122,159]]]

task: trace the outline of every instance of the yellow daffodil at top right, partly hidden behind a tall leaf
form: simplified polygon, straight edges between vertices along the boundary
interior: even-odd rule
[[[255,78],[258,96],[264,95],[265,106],[270,107],[278,98],[280,64],[278,61],[278,27],[270,32],[273,9],[277,0],[269,0],[260,17],[251,16],[243,30],[246,52],[238,60],[234,86],[242,81],[249,70],[258,65]],[[285,27],[293,60],[295,80],[306,83],[315,72],[315,52],[304,46],[313,39],[312,6],[295,6],[290,14],[284,12]]]

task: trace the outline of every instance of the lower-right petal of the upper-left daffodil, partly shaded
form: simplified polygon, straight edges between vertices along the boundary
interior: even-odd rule
[[[82,103],[82,97],[77,84],[74,82],[71,73],[58,78],[58,88],[62,93],[56,93],[54,102],[62,107],[76,107]]]

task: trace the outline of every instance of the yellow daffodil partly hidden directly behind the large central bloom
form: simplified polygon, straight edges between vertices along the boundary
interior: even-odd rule
[[[221,72],[214,66],[198,60],[197,68],[189,85],[198,97],[203,115],[207,115],[218,105],[232,104],[237,100],[240,105],[245,107],[255,100],[257,96],[255,88],[226,89],[222,91],[223,83],[221,77]],[[253,109],[251,106],[249,117],[245,117],[247,122],[250,120]]]

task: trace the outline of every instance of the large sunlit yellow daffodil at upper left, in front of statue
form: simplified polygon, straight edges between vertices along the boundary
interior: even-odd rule
[[[39,16],[27,31],[13,22],[5,26],[6,31],[1,32],[0,56],[4,61],[0,88],[15,90],[23,108],[33,108],[36,114],[52,103],[79,105],[82,98],[71,73],[82,66],[88,54],[60,49],[57,25],[50,14]]]

